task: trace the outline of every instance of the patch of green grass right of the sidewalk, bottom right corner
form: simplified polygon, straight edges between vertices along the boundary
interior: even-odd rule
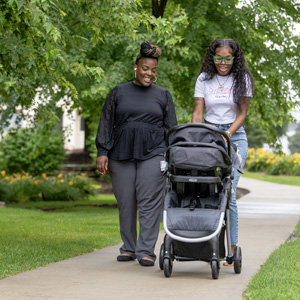
[[[300,222],[294,239],[275,250],[252,278],[244,293],[245,300],[300,298]]]

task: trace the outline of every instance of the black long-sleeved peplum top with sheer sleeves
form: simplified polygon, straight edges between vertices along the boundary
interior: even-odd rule
[[[170,93],[155,84],[116,86],[103,106],[96,146],[98,156],[145,160],[166,151],[165,134],[177,124]]]

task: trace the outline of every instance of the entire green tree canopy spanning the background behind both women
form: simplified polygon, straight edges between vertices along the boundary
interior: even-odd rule
[[[139,46],[149,40],[163,50],[157,84],[171,92],[179,120],[190,121],[195,81],[216,38],[237,40],[253,74],[247,122],[274,144],[276,127],[292,120],[291,90],[300,90],[296,0],[8,0],[0,6],[2,120],[31,106],[43,88],[53,101],[69,93],[94,131],[109,90],[133,79]]]

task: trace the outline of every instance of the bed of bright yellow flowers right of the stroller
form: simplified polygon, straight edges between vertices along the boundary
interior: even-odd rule
[[[250,148],[245,167],[250,172],[300,176],[300,154],[280,155],[265,151],[262,148]]]

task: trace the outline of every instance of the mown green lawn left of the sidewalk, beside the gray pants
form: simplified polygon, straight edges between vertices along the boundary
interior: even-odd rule
[[[51,205],[101,203],[116,201],[111,195],[101,195],[90,201],[26,206],[49,209]],[[0,227],[0,279],[121,243],[117,208],[79,206],[45,212],[10,206],[0,209]]]

